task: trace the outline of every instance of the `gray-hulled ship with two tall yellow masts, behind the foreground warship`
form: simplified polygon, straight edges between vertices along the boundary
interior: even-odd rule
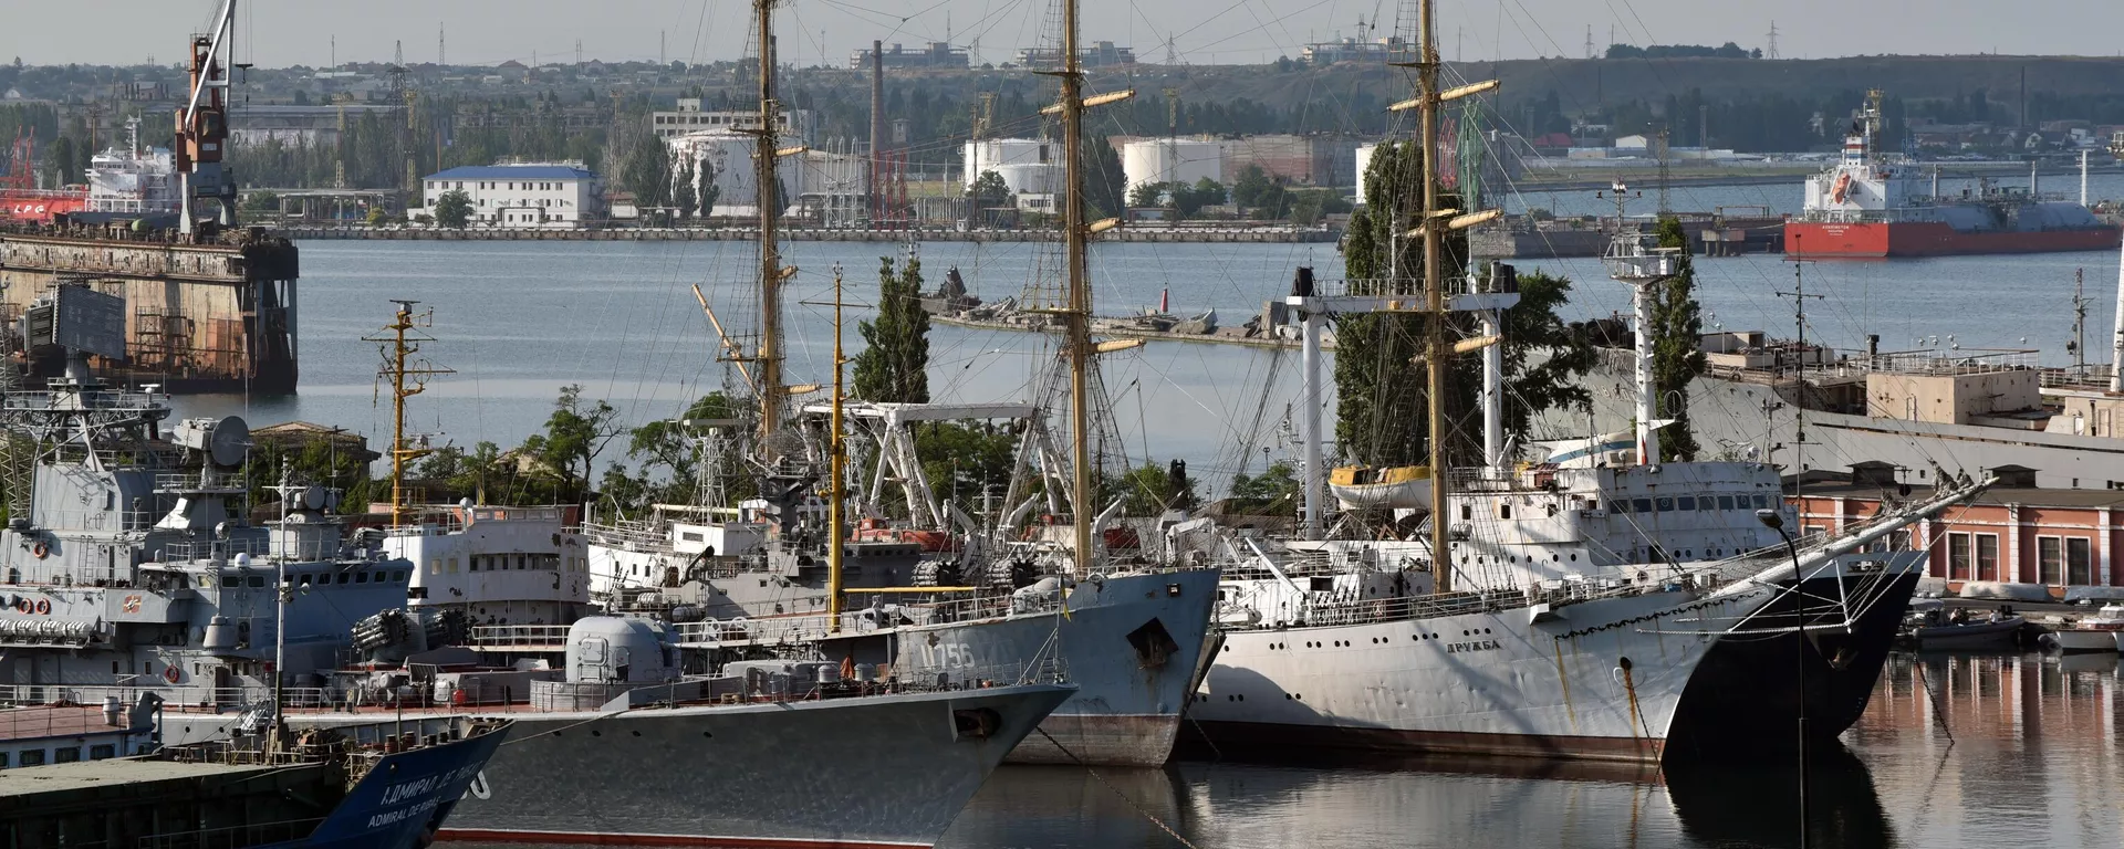
[[[1075,45],[1075,4],[1064,4],[1064,40]],[[765,25],[763,19],[763,32]],[[760,55],[767,53],[760,47]],[[1077,53],[1064,49],[1062,55]],[[782,265],[775,242],[777,204],[763,202],[756,204],[758,344],[722,344],[754,403],[743,416],[692,422],[716,431],[703,435],[703,463],[735,456],[758,497],[733,505],[703,495],[699,505],[671,505],[648,520],[586,522],[590,588],[620,609],[656,611],[675,622],[680,645],[716,662],[760,654],[822,658],[898,681],[952,681],[971,669],[1034,664],[1051,645],[1054,662],[1077,692],[1013,751],[1013,760],[1155,766],[1172,751],[1200,660],[1211,652],[1217,569],[1124,562],[1109,556],[1102,535],[1094,533],[1111,509],[1094,505],[1092,486],[1096,344],[1085,244],[1096,229],[1083,221],[1075,138],[1087,106],[1124,93],[1087,98],[1075,59],[1058,76],[1062,102],[1056,110],[1068,134],[1064,172],[1070,178],[1064,204],[1070,304],[1060,310],[1070,316],[1062,357],[1070,386],[1066,446],[1045,437],[1043,414],[1032,408],[858,408],[886,446],[875,480],[886,478],[890,454],[890,478],[907,482],[907,509],[947,526],[915,535],[850,526],[843,514],[856,475],[845,463],[847,410],[839,391],[830,408],[790,410],[794,393],[784,374],[780,291],[794,267]],[[758,125],[780,125],[773,70],[765,59],[760,108]],[[773,191],[775,157],[775,140],[760,136],[754,163],[763,191]],[[843,361],[839,350],[835,361]],[[839,386],[839,367],[835,382]],[[954,418],[1022,422],[1020,454],[1030,456],[1032,444],[1041,444],[1051,512],[1073,516],[1068,541],[1005,545],[1003,529],[969,522],[920,484],[909,427]],[[1020,471],[1026,465],[1020,463]],[[1013,490],[1011,499],[1017,497],[1028,495]],[[928,550],[947,537],[962,543]]]

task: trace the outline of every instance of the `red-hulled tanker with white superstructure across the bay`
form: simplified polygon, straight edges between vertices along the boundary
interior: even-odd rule
[[[1844,138],[1844,155],[1808,178],[1799,216],[1784,223],[1784,253],[1801,259],[1943,257],[1971,253],[2103,250],[2118,225],[2084,204],[2026,189],[1939,191],[1939,172],[1882,151],[1882,93]]]

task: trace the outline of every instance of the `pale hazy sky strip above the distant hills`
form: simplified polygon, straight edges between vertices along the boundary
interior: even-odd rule
[[[0,0],[0,62],[174,62],[183,34],[219,0]],[[1298,55],[1308,40],[1355,36],[1357,19],[1385,19],[1415,0],[1081,0],[1083,38],[1113,40],[1164,62],[1240,64]],[[669,59],[739,55],[748,0],[244,0],[244,62],[259,66],[435,59],[438,25],[452,64],[506,59]],[[981,59],[1051,38],[1056,0],[784,0],[777,34],[788,62],[845,64],[850,49],[884,38],[918,45],[979,38]],[[1771,17],[1786,57],[1858,53],[2124,53],[2120,0],[1440,0],[1446,59],[1582,55],[1610,28],[1621,42],[1725,40],[1767,47]],[[1385,32],[1381,32],[1385,34]]]

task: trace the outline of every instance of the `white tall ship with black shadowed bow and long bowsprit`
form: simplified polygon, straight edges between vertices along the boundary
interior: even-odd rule
[[[1425,32],[1432,11],[1423,4]],[[1436,49],[1425,38],[1425,55]],[[1444,98],[1436,66],[1419,66],[1432,144]],[[1434,212],[1425,180],[1421,295],[1315,291],[1302,276],[1289,304],[1304,320],[1304,539],[1264,541],[1215,529],[1172,537],[1177,556],[1232,562],[1219,620],[1223,649],[1189,720],[1219,751],[1349,747],[1489,756],[1661,760],[1835,737],[1863,709],[1920,554],[1888,548],[1897,531],[1984,484],[1884,509],[1837,537],[1786,545],[1793,514],[1763,463],[1659,463],[1650,289],[1672,253],[1618,236],[1616,278],[1635,291],[1635,427],[1621,437],[1551,446],[1512,463],[1502,439],[1502,310],[1510,274],[1446,293],[1440,231],[1485,212]],[[1393,291],[1391,287],[1387,291]],[[1429,482],[1417,539],[1323,539],[1319,329],[1336,312],[1476,312],[1485,352],[1485,463],[1449,469],[1434,437],[1427,467],[1338,475],[1347,507],[1393,507],[1395,490]],[[1432,323],[1429,397],[1444,397],[1451,346]],[[1444,420],[1432,405],[1432,433]],[[1627,441],[1623,441],[1627,439]],[[1616,448],[1625,452],[1616,456]],[[1621,463],[1614,463],[1621,461]],[[1378,486],[1366,480],[1381,482]],[[1389,501],[1389,503],[1383,503]],[[1364,518],[1364,516],[1359,516]],[[1882,548],[1875,552],[1875,548]]]

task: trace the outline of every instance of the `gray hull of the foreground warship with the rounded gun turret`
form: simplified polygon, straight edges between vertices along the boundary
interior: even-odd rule
[[[926,847],[1068,688],[518,713],[446,838],[663,847]],[[994,732],[960,734],[960,711]]]

